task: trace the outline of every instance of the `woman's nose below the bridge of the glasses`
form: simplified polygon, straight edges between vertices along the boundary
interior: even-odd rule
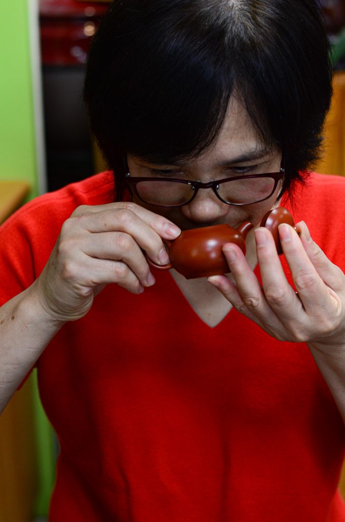
[[[196,223],[213,223],[221,221],[228,214],[230,207],[231,205],[216,197],[212,188],[205,188],[199,189],[191,203],[181,207],[181,212],[184,217]]]

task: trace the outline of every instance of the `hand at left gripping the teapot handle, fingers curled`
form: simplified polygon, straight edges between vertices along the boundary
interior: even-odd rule
[[[179,234],[171,221],[134,203],[78,207],[63,224],[34,291],[53,321],[75,321],[109,283],[134,294],[151,286],[155,280],[143,251],[165,265],[162,239]]]

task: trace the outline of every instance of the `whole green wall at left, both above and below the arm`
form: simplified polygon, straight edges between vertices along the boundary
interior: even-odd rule
[[[34,98],[40,97],[39,78],[32,78],[31,41],[38,39],[35,13],[38,0],[2,2],[0,31],[0,180],[26,180],[38,195],[39,161],[36,156]],[[32,30],[30,31],[30,26]],[[39,56],[36,67],[39,68]],[[34,79],[34,84],[32,82]],[[35,92],[33,85],[35,85]],[[37,138],[38,140],[40,138]],[[42,161],[42,160],[41,160]],[[35,406],[39,494],[35,514],[45,515],[54,482],[54,442],[50,424],[38,398],[35,375],[31,377]],[[18,499],[20,502],[20,499]]]

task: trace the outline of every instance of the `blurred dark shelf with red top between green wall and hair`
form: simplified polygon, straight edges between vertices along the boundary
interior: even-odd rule
[[[40,0],[47,185],[50,191],[95,172],[82,102],[84,62],[106,3]]]

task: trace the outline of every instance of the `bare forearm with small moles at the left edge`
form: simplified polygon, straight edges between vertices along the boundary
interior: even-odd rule
[[[0,413],[62,325],[44,311],[35,283],[0,308]]]

